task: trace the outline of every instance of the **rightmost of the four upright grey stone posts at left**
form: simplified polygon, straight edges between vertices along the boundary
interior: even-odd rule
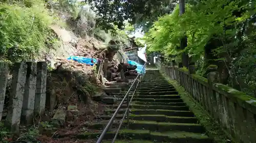
[[[46,106],[46,80],[47,80],[47,63],[37,62],[36,67],[36,93],[34,111],[36,115],[41,116]]]

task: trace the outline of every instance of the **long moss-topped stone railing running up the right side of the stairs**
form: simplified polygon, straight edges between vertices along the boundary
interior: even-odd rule
[[[237,142],[256,142],[256,99],[218,83],[216,71],[207,78],[195,74],[195,65],[189,70],[178,66],[157,66],[201,104],[223,129]]]

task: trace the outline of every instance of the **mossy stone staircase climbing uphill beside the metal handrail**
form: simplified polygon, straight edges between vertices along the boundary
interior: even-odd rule
[[[124,97],[125,92],[116,95]],[[88,128],[98,130],[98,132],[78,134],[76,138],[98,138],[117,106],[113,105],[113,109],[105,110],[105,114],[100,116],[101,122],[87,125]],[[116,121],[112,125],[113,130],[106,133],[103,142],[111,142],[108,140],[113,139],[115,129],[119,126],[125,109],[126,103],[118,112]],[[123,122],[116,142],[208,143],[212,140],[174,87],[158,70],[148,70],[139,83],[137,94],[133,99],[129,125],[127,125],[127,120]]]

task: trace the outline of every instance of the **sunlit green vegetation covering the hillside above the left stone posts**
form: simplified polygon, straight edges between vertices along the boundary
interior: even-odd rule
[[[10,0],[0,2],[0,53],[9,62],[45,59],[63,46],[52,25],[73,32],[80,39],[94,37],[104,47],[110,40],[130,46],[129,37],[113,25],[115,32],[102,31],[96,14],[85,3],[69,0]],[[126,24],[127,26],[130,26]],[[130,26],[131,27],[131,26]],[[75,46],[78,40],[71,41]],[[59,56],[59,55],[54,55]],[[67,58],[67,57],[66,57]]]

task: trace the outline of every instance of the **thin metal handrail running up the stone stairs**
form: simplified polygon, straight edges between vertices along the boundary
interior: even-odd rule
[[[143,68],[145,67],[145,65],[146,65],[146,63],[143,65]],[[111,117],[109,123],[106,125],[106,127],[104,128],[104,130],[103,130],[102,133],[100,134],[100,136],[99,136],[99,138],[98,138],[98,140],[97,140],[96,143],[101,143],[101,141],[103,140],[104,135],[106,134],[106,132],[108,132],[109,128],[111,127],[111,124],[113,123],[115,117],[117,116],[117,113],[118,113],[118,111],[120,110],[120,108],[121,108],[121,106],[122,106],[122,104],[123,104],[123,102],[124,102],[125,99],[127,99],[127,109],[126,109],[126,111],[125,111],[125,113],[124,113],[124,115],[123,115],[122,120],[120,121],[120,125],[119,125],[119,127],[118,127],[118,129],[117,129],[117,131],[116,131],[116,134],[115,134],[115,137],[114,137],[112,143],[115,142],[115,139],[116,139],[116,137],[117,137],[117,135],[118,135],[118,132],[119,132],[121,126],[122,126],[122,122],[123,122],[123,120],[125,119],[125,115],[127,115],[127,124],[129,124],[129,109],[130,109],[129,107],[130,107],[130,104],[131,104],[131,102],[132,102],[132,99],[133,99],[133,96],[134,96],[134,94],[135,94],[135,91],[137,90],[137,87],[138,87],[138,84],[139,84],[140,80],[138,81],[138,83],[137,83],[137,85],[136,85],[136,89],[135,89],[134,92],[133,92],[133,95],[132,95],[132,98],[131,98],[131,101],[130,101],[130,102],[129,102],[129,93],[130,93],[130,91],[131,91],[131,89],[132,89],[132,87],[133,87],[135,81],[137,81],[138,77],[140,77],[141,75],[142,75],[142,73],[140,73],[140,74],[138,74],[138,75],[136,76],[136,78],[135,78],[135,80],[133,81],[131,87],[130,87],[129,90],[126,92],[125,96],[123,97],[123,100],[121,101],[121,103],[120,103],[119,106],[117,107],[117,109],[116,109],[116,111],[114,112],[113,116]]]

